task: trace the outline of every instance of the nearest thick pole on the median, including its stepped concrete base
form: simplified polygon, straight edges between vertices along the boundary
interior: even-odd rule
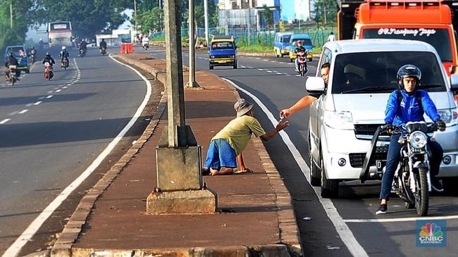
[[[202,179],[202,146],[185,120],[180,0],[165,0],[164,15],[168,126],[156,147],[157,185],[147,197],[147,214],[215,213],[216,193]]]

